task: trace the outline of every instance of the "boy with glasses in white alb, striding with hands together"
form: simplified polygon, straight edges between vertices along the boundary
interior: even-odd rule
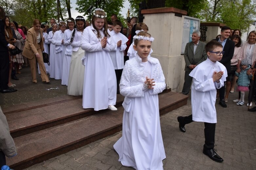
[[[215,126],[217,123],[215,101],[216,89],[224,86],[226,81],[226,67],[221,64],[223,51],[222,44],[216,40],[208,42],[205,46],[207,60],[197,65],[189,76],[193,77],[191,87],[192,115],[178,116],[179,128],[186,132],[185,125],[193,121],[205,123],[205,145],[203,153],[210,159],[223,162],[215,152]]]

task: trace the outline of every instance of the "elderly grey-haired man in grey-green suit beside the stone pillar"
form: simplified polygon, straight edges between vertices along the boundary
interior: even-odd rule
[[[200,31],[192,33],[192,41],[188,42],[184,51],[185,58],[185,82],[182,89],[182,94],[188,94],[192,83],[192,77],[189,73],[200,63],[207,59],[205,52],[205,43],[199,41],[201,36]]]

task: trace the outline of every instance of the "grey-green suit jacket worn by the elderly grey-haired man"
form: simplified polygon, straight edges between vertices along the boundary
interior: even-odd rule
[[[188,42],[185,51],[184,51],[184,59],[185,59],[185,71],[192,71],[188,68],[189,65],[198,65],[207,59],[207,54],[205,52],[205,43],[199,41],[196,52],[194,54],[194,44],[193,42]]]

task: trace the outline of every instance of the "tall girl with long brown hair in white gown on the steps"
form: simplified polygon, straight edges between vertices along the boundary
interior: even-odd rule
[[[83,108],[117,110],[116,75],[109,52],[116,49],[107,28],[106,13],[95,9],[91,25],[85,28],[81,47],[86,51],[83,58],[85,78]]]

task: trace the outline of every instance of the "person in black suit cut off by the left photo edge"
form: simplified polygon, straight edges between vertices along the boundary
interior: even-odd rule
[[[5,18],[5,11],[0,7],[0,91],[1,93],[10,93],[17,91],[14,88],[8,87],[9,81],[9,49],[15,47],[5,39],[5,26],[3,19]]]

